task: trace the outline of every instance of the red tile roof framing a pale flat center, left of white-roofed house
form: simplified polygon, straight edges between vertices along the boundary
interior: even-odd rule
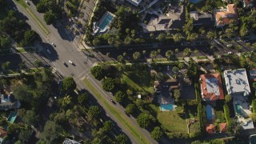
[[[223,93],[223,87],[222,87],[222,78],[221,74],[201,74],[201,91],[202,91],[202,98],[206,100],[206,98],[210,99],[210,101],[215,101],[218,99],[224,99],[224,93]],[[218,90],[219,95],[216,95],[215,93],[209,93],[206,89],[206,78],[217,78],[218,80]]]

